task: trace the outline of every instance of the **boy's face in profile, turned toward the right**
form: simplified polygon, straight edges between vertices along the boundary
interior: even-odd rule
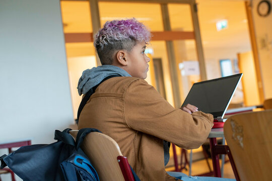
[[[145,50],[146,43],[143,41],[135,45],[131,52],[126,52],[126,71],[133,77],[147,78],[150,58],[145,54]]]

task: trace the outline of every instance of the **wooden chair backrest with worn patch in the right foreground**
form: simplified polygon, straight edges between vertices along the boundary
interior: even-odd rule
[[[224,135],[241,180],[271,180],[272,110],[231,116]]]

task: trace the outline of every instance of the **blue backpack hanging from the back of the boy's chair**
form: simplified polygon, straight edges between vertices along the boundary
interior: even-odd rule
[[[98,181],[98,174],[80,145],[88,133],[100,131],[81,129],[75,142],[70,130],[56,130],[54,139],[57,142],[23,146],[1,156],[1,168],[8,165],[23,180]]]

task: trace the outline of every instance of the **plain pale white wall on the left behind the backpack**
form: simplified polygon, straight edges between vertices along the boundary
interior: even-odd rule
[[[0,86],[0,143],[73,123],[59,1],[0,1]]]

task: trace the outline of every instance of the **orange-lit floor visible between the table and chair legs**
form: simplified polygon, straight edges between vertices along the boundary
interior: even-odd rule
[[[213,169],[212,159],[209,159],[209,163]],[[220,165],[221,165],[221,160],[220,160]],[[182,172],[189,175],[189,170],[188,170],[189,166],[186,166],[186,168],[187,168],[187,170],[183,169]],[[173,170],[174,170],[174,167],[166,168],[166,171],[173,171]],[[208,164],[205,159],[202,159],[199,161],[194,161],[192,163],[191,175],[196,176],[196,175],[199,175],[201,173],[206,173],[206,172],[210,172],[210,170],[209,170]],[[229,161],[224,164],[224,174],[222,177],[235,178],[234,173],[232,171],[231,164]]]

